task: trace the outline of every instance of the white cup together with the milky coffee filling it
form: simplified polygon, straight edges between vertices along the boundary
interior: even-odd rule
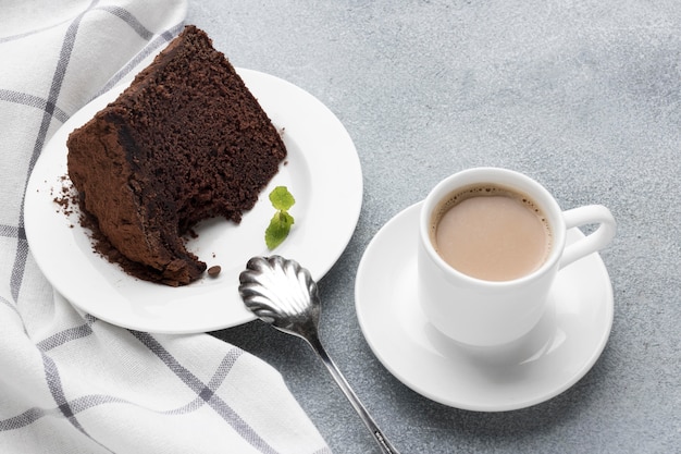
[[[598,228],[567,245],[568,230],[586,224]],[[614,236],[615,219],[600,205],[562,211],[546,188],[511,170],[456,173],[421,205],[421,307],[450,340],[481,347],[508,344],[542,318],[558,271]],[[451,238],[455,244],[447,244]],[[448,248],[460,257],[449,259]]]

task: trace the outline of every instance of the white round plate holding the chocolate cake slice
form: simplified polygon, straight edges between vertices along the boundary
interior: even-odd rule
[[[237,70],[277,130],[284,128],[287,163],[260,194],[239,225],[223,219],[197,229],[188,244],[216,279],[184,287],[131,278],[92,251],[77,214],[67,217],[53,201],[66,172],[66,138],[123,87],[97,98],[58,131],[33,171],[25,201],[26,235],[38,266],[59,293],[92,316],[129,329],[157,333],[205,332],[253,319],[238,295],[238,274],[250,257],[277,254],[299,261],[321,279],[350,240],[362,203],[362,174],[355,145],[338,119],[307,91],[277,77]],[[268,195],[285,185],[296,198],[295,224],[275,250],[264,244],[274,209]],[[337,216],[343,213],[343,216]],[[333,220],[333,221],[332,221]]]

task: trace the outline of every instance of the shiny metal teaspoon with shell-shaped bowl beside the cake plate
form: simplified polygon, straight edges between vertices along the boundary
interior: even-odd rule
[[[302,338],[320,356],[384,454],[399,454],[383,435],[319,340],[321,300],[310,272],[281,256],[253,257],[239,275],[246,307],[262,321]]]

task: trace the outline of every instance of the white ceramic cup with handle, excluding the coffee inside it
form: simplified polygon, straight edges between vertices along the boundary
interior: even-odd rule
[[[529,196],[542,210],[552,232],[552,246],[538,269],[509,281],[472,278],[448,265],[431,238],[434,212],[458,189],[492,184]],[[590,235],[566,247],[568,229],[599,224]],[[419,298],[429,321],[447,338],[472,346],[516,341],[538,322],[556,274],[561,268],[605,247],[615,236],[610,211],[590,205],[562,211],[537,182],[521,173],[475,168],[456,173],[428,195],[419,217]]]

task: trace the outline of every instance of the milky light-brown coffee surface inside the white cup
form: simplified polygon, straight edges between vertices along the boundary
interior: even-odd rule
[[[552,231],[527,194],[497,184],[462,187],[444,197],[431,221],[431,242],[453,268],[485,281],[510,281],[538,269]]]

